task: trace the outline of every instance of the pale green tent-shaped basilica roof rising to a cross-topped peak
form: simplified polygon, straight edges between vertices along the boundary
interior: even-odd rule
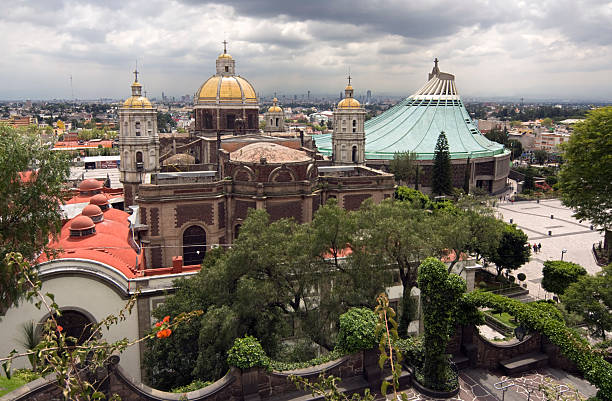
[[[429,81],[421,89],[366,121],[366,159],[393,159],[397,152],[415,152],[418,159],[431,160],[441,131],[446,134],[453,159],[507,152],[472,123],[455,86],[455,76],[440,72],[436,60]],[[331,134],[313,139],[322,154],[331,156]]]

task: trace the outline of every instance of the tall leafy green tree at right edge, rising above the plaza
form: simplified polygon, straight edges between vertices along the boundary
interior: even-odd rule
[[[604,248],[612,256],[612,107],[588,113],[562,147],[565,163],[559,173],[563,204],[579,220],[605,231]]]

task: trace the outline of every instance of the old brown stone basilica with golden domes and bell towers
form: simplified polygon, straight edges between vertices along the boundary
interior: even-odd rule
[[[309,136],[284,132],[276,102],[264,113],[271,124],[259,132],[256,92],[235,74],[224,49],[216,74],[194,96],[189,143],[160,156],[155,109],[135,81],[119,112],[121,181],[126,207],[138,209],[146,267],[170,266],[177,256],[185,265],[199,264],[211,247],[232,243],[249,209],[265,209],[272,220],[308,222],[330,198],[354,210],[365,199],[391,197],[393,175],[364,164],[365,111],[350,85],[346,94],[336,114],[339,126],[349,128],[336,138],[338,156],[324,158]],[[195,155],[195,163],[165,163],[180,152]]]

